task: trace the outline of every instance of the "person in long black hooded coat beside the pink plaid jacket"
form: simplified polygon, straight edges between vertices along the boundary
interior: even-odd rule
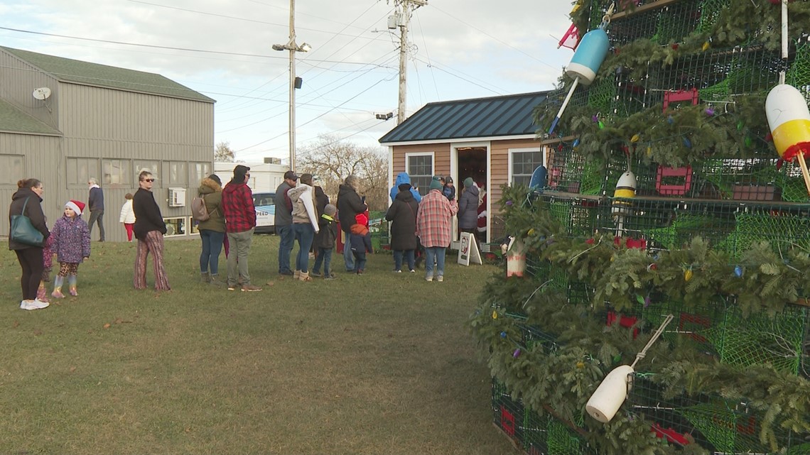
[[[388,207],[386,219],[391,222],[391,249],[394,250],[394,273],[402,272],[403,253],[407,260],[407,269],[416,272],[414,252],[416,251],[416,212],[419,203],[411,193],[411,184],[403,183],[397,187],[399,193]]]

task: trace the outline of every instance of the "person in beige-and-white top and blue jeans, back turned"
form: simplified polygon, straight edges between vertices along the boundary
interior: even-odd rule
[[[302,174],[298,185],[289,189],[287,195],[292,201],[292,232],[298,240],[296,270],[292,276],[301,281],[312,281],[309,276],[309,247],[319,230],[312,174]]]

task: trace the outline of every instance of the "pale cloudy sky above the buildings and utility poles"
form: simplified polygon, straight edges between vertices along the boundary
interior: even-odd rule
[[[378,145],[397,113],[393,0],[295,7],[296,43],[312,46],[296,53],[297,148],[319,134]],[[3,0],[0,45],[163,74],[217,100],[215,143],[237,159],[287,159],[289,53],[271,45],[288,43],[289,10],[289,0]],[[434,101],[551,89],[573,55],[552,38],[570,10],[567,0],[428,0],[411,19],[407,116]]]

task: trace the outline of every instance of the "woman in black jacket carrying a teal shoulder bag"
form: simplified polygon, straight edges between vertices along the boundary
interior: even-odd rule
[[[25,179],[17,181],[17,192],[11,196],[11,206],[8,208],[9,225],[11,225],[12,215],[26,215],[31,219],[31,223],[37,231],[42,232],[44,239],[50,236],[48,225],[45,224],[45,214],[42,212],[42,182],[36,179]],[[24,207],[24,210],[23,210]],[[36,298],[36,289],[40,287],[42,270],[45,263],[42,257],[41,246],[31,246],[8,240],[8,249],[17,253],[19,266],[23,269],[23,276],[19,279],[23,288],[23,301],[19,303],[19,308],[42,309],[48,307],[48,302],[42,302]]]

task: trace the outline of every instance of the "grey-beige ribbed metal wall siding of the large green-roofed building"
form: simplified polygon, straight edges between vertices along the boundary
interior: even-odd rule
[[[4,58],[2,53],[0,58]],[[3,68],[0,70],[4,81],[6,73],[14,73]],[[53,90],[50,105],[52,108],[59,106],[53,110],[55,121],[52,122],[61,126],[63,138],[0,133],[0,155],[25,155],[26,175],[18,178],[33,176],[44,182],[44,207],[49,224],[61,216],[66,201],[78,199],[87,202],[87,185],[83,181],[68,183],[68,160],[93,158],[97,159],[98,172],[92,176],[100,181],[104,189],[106,240],[126,240],[126,232],[118,223],[118,215],[125,200],[124,195],[138,189],[135,163],[139,160],[157,161],[161,168],[158,173],[162,174],[166,164],[172,161],[185,163],[185,172],[189,174],[181,185],[187,189],[185,207],[168,206],[166,181],[158,181],[153,193],[164,218],[185,219],[187,236],[190,231],[190,202],[199,183],[195,164],[204,164],[208,172],[213,172],[214,104],[73,83],[59,83],[58,87],[50,88]],[[28,88],[25,90],[28,91]],[[6,91],[8,89],[4,84],[4,98]],[[33,88],[27,96],[32,98],[31,91]],[[105,184],[101,174],[105,159],[122,159],[128,163],[129,178],[122,184]],[[10,202],[15,187],[16,181],[0,182],[0,200],[6,204]],[[8,228],[8,218],[3,216],[0,219],[0,233],[7,235]],[[97,228],[92,236],[93,240],[98,239]]]

